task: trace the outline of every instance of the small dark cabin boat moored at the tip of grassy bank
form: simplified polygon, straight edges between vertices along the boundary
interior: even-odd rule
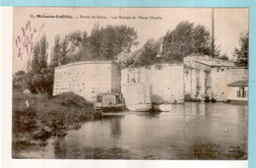
[[[99,93],[96,95],[94,107],[103,112],[122,111],[124,110],[122,95],[113,92]]]

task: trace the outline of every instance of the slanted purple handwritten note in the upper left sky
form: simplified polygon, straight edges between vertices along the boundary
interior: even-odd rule
[[[32,23],[28,21],[24,27],[21,28],[21,34],[19,34],[15,40],[16,48],[18,49],[18,57],[23,60],[27,57],[27,60],[31,60],[33,45],[37,41],[38,36],[43,29],[44,24],[39,28],[32,28]]]

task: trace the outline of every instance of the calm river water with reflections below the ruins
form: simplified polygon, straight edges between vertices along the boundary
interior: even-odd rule
[[[106,113],[22,158],[247,159],[248,107],[187,102],[170,112]]]

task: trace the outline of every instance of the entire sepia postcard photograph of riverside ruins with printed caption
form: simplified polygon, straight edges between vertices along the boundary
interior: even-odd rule
[[[13,159],[247,160],[249,8],[14,7]]]

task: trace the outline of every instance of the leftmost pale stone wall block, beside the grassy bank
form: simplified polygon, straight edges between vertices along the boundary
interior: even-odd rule
[[[53,95],[73,91],[93,101],[97,93],[120,90],[120,71],[112,61],[77,62],[55,68]]]

